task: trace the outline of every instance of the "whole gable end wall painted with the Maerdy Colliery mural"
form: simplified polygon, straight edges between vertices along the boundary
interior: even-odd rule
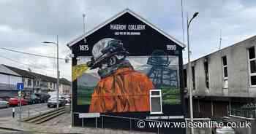
[[[72,125],[142,130],[138,119],[184,121],[184,44],[172,36],[125,9],[68,46],[74,55]]]

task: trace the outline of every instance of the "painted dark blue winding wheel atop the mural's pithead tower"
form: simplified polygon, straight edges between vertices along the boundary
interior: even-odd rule
[[[151,66],[169,66],[170,60],[168,55],[163,50],[154,50],[147,61],[148,65]]]

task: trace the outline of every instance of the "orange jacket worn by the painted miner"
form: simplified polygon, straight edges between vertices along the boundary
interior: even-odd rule
[[[132,67],[119,68],[100,79],[91,95],[89,112],[149,111],[149,91],[153,83]]]

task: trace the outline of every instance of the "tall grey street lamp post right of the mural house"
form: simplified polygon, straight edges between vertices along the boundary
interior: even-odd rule
[[[190,63],[190,50],[189,50],[189,25],[192,22],[192,20],[197,17],[198,12],[195,12],[193,17],[189,20],[189,17],[187,15],[187,58],[188,58],[188,64],[189,64],[189,84],[188,84],[188,88],[189,88],[189,106],[190,106],[190,119],[191,122],[193,121],[193,102],[192,102],[192,88],[191,88],[191,79],[190,79],[190,75],[191,75],[191,63]],[[191,133],[194,134],[194,127],[191,127]]]

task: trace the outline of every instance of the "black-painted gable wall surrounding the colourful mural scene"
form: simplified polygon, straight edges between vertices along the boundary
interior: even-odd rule
[[[138,20],[138,18],[134,17],[133,15],[129,14],[129,12],[121,15],[120,17],[116,18],[112,22],[108,23],[107,25],[99,28],[99,30],[91,33],[89,36],[86,37],[86,44],[83,39],[79,42],[74,44],[71,49],[72,53],[74,54],[74,58],[72,58],[72,66],[76,66],[78,64],[78,57],[91,57],[91,49],[93,45],[98,42],[100,39],[103,38],[113,38],[113,39],[120,39],[124,47],[129,52],[129,56],[147,56],[149,57],[152,52],[155,50],[162,50],[166,53],[166,55],[173,55],[178,57],[178,82],[180,85],[180,98],[181,102],[178,104],[166,104],[162,106],[163,113],[159,114],[158,116],[183,116],[184,115],[184,84],[182,78],[182,50],[183,47],[179,46],[172,40],[168,39],[166,36],[163,36],[161,33],[156,31],[154,28],[151,28],[149,25],[146,25],[145,30],[140,31],[132,31],[132,32],[140,32],[140,35],[115,35],[115,32],[124,32],[124,31],[113,31],[110,30],[110,25],[113,24],[121,24],[121,25],[146,25],[142,21]],[[130,31],[125,31],[130,32]],[[88,45],[88,51],[81,51],[81,45]],[[176,50],[167,50],[167,45],[175,45]],[[75,80],[72,82],[72,111],[75,113],[73,117],[72,125],[80,126],[81,119],[78,118],[78,113],[86,113],[88,112],[89,105],[78,105],[78,81]],[[146,117],[150,117],[151,114],[149,112],[125,112],[125,113],[109,113],[108,115],[111,116],[118,116],[118,117],[133,117],[133,118],[140,118],[146,119]],[[157,116],[157,115],[154,115]],[[100,122],[101,119],[98,119],[97,122]],[[101,120],[102,121],[102,120]],[[108,122],[108,127],[110,128],[121,128],[121,129],[129,129],[129,120],[120,121],[120,119],[108,118],[104,119],[105,122]],[[176,119],[172,121],[183,122],[184,119]],[[112,123],[110,123],[112,122]],[[136,122],[136,121],[132,121]],[[86,125],[94,126],[95,127],[95,119],[86,119]],[[134,124],[135,125],[135,124]],[[107,126],[106,126],[107,127]],[[135,129],[135,126],[133,126]],[[140,129],[139,129],[140,130]],[[146,130],[146,129],[145,129]],[[149,131],[154,131],[150,130]],[[184,133],[183,128],[176,128],[171,129],[173,133]],[[166,133],[170,131],[168,129],[162,129],[160,132]]]

